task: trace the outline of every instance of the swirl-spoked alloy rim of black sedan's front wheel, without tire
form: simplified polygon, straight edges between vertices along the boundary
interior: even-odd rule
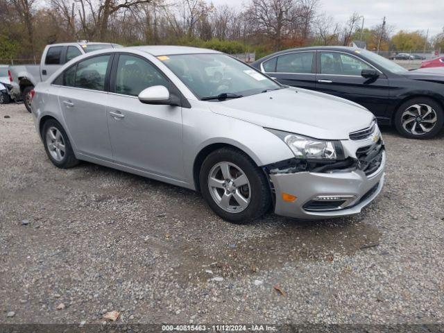
[[[436,125],[436,111],[427,104],[409,106],[401,116],[402,128],[413,135],[429,133]]]

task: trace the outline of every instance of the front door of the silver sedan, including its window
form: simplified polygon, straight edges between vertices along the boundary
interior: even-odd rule
[[[114,57],[107,106],[113,160],[183,180],[182,108],[137,99],[139,92],[155,85],[170,83],[151,62],[125,53]]]

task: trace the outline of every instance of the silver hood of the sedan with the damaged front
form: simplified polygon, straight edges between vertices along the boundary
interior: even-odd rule
[[[316,139],[348,139],[348,133],[367,128],[375,118],[357,103],[292,87],[208,103],[217,114]]]

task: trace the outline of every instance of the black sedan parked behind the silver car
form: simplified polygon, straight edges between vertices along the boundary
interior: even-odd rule
[[[443,128],[441,74],[408,71],[376,53],[342,46],[280,51],[252,65],[284,85],[359,103],[406,137],[425,139]]]

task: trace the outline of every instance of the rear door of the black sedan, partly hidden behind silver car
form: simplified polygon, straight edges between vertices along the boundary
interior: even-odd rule
[[[276,56],[261,64],[261,70],[284,85],[315,89],[316,51]]]

